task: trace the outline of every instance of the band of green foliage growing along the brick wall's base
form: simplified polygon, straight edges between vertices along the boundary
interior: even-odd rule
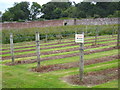
[[[95,36],[96,27],[99,29],[99,35],[112,34],[113,28],[117,30],[117,25],[89,25],[86,36]],[[9,43],[9,34],[11,32],[14,34],[14,42],[34,41],[36,31],[40,32],[41,40],[45,39],[46,34],[48,35],[48,40],[53,40],[58,39],[56,35],[62,35],[62,37],[65,38],[73,35],[75,31],[77,31],[77,33],[81,33],[82,31],[86,32],[86,26],[73,25],[2,30],[2,43]]]

